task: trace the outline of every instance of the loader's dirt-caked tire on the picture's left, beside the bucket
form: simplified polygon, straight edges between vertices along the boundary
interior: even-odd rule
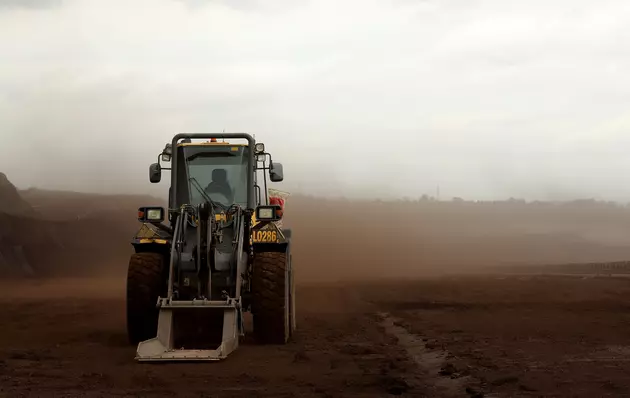
[[[164,256],[135,253],[127,271],[127,335],[138,344],[157,335],[158,296],[166,293]]]

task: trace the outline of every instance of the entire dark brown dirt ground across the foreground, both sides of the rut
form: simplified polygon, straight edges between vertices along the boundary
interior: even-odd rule
[[[1,396],[630,394],[630,278],[301,285],[295,341],[200,364],[134,362],[120,279],[0,288]]]

